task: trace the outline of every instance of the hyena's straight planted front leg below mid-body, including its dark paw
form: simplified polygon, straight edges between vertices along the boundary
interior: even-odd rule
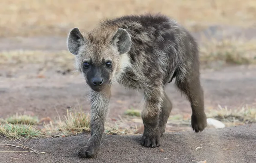
[[[145,106],[141,114],[144,124],[144,132],[141,145],[145,147],[158,147],[161,145],[161,133],[158,128],[158,117],[160,113],[163,91],[162,89],[145,92]]]

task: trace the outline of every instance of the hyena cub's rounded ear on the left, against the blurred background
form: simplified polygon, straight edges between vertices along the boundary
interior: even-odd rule
[[[85,44],[84,37],[78,28],[73,28],[67,38],[67,47],[70,53],[77,55],[81,45]]]

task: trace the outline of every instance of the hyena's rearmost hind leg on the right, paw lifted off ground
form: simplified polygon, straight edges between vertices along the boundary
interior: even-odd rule
[[[177,75],[175,84],[181,93],[186,94],[191,109],[191,124],[195,132],[204,130],[207,126],[204,112],[204,92],[200,84],[198,67],[193,67],[186,76]]]

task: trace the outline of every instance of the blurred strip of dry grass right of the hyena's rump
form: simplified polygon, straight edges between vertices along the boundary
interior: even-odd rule
[[[200,60],[202,64],[221,61],[228,64],[256,63],[256,40],[211,39],[200,47]]]

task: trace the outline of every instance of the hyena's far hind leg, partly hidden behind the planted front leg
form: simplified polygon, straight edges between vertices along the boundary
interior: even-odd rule
[[[167,94],[165,93],[162,106],[161,106],[161,111],[159,115],[159,124],[158,124],[161,136],[165,133],[165,127],[166,127],[168,118],[170,116],[171,109],[172,109],[171,100],[169,100]]]

